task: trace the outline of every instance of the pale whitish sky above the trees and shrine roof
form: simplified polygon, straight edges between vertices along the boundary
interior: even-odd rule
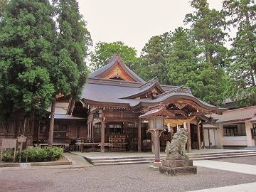
[[[122,41],[138,55],[152,36],[174,31],[193,9],[189,0],[78,0],[93,44]],[[220,10],[222,0],[208,0]]]

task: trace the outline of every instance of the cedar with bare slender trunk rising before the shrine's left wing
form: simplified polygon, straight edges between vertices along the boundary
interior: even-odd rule
[[[59,86],[56,84],[55,91],[57,92],[55,92],[55,95],[60,92],[63,95],[70,94],[74,103],[75,99],[80,96],[87,78],[85,57],[88,46],[91,43],[90,33],[87,31],[85,21],[79,13],[77,1],[59,0],[53,2],[58,23],[58,67],[63,67],[63,74],[65,74],[65,76],[61,77],[54,76],[55,82],[63,82],[60,85],[63,88],[62,90],[58,89]],[[53,95],[50,113],[48,146],[53,144],[55,95]]]

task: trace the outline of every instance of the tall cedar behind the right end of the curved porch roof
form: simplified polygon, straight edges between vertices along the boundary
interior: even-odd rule
[[[200,70],[203,72],[199,76],[203,80],[201,88],[204,89],[200,98],[217,105],[224,99],[227,84],[222,69],[227,54],[223,46],[227,35],[223,32],[225,16],[221,11],[209,9],[207,0],[193,0],[191,6],[196,11],[186,15],[185,23],[191,23],[193,36],[205,57],[201,61]]]

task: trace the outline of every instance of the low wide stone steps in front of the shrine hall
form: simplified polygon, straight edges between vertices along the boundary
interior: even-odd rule
[[[151,153],[120,153],[120,152],[105,152],[105,153],[79,153],[87,161],[95,166],[100,165],[122,165],[122,164],[149,164],[154,162],[154,154]],[[202,149],[193,150],[188,153],[188,158],[194,161],[207,159],[223,159],[241,156],[256,156],[256,150],[228,150],[228,149]],[[161,159],[165,159],[165,154],[161,153]]]

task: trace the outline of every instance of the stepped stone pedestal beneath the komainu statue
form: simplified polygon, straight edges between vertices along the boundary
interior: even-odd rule
[[[170,157],[162,161],[163,166],[159,167],[161,174],[176,176],[177,174],[196,174],[197,168],[193,166],[193,160],[188,156]]]

